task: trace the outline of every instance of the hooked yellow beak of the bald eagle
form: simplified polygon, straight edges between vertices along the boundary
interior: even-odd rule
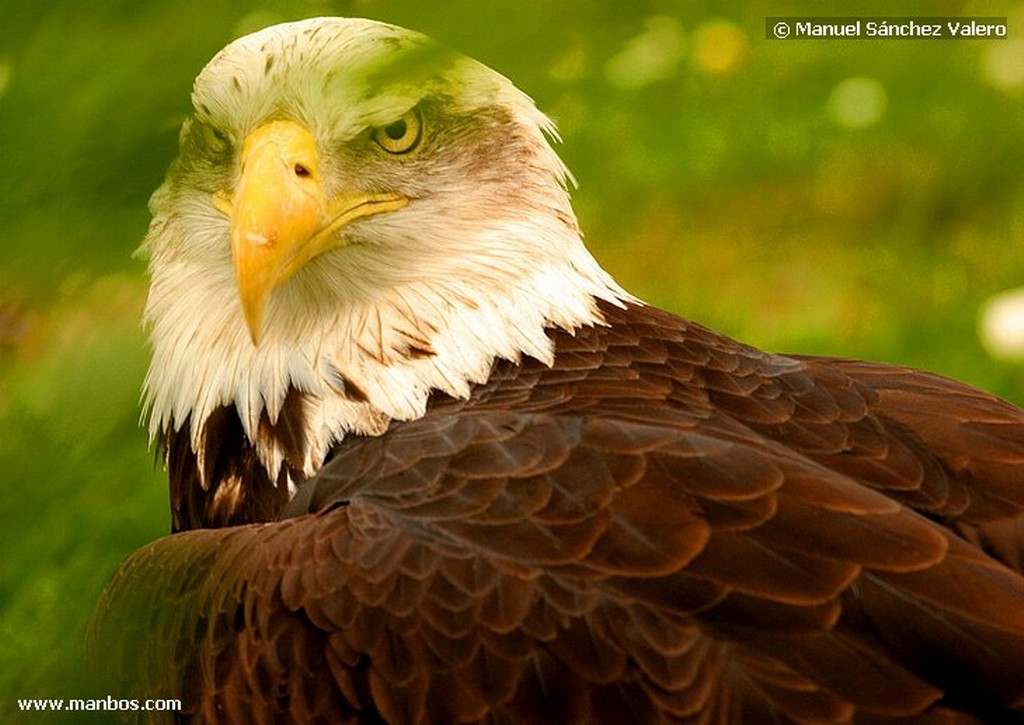
[[[293,121],[271,121],[246,138],[233,198],[214,195],[231,220],[239,298],[253,344],[259,344],[270,292],[310,259],[344,246],[349,222],[403,207],[399,194],[346,189],[327,198],[316,140]]]

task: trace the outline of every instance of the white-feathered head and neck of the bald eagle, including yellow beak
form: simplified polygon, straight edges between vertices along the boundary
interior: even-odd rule
[[[547,329],[628,297],[583,246],[551,122],[420,34],[274,26],[218,53],[193,105],[143,244],[144,399],[153,435],[186,431],[201,459],[233,410],[278,476],[289,454],[261,422],[299,395],[288,463],[310,475],[496,359],[550,364]]]

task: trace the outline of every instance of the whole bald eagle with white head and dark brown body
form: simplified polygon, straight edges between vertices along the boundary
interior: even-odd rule
[[[94,627],[125,692],[198,722],[1024,719],[1024,412],[634,298],[551,122],[419,34],[268,28],[193,102],[144,243],[175,532]]]

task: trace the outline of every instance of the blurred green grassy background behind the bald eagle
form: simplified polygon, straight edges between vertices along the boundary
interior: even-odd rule
[[[193,78],[271,23],[389,20],[509,76],[558,121],[587,240],[640,297],[769,349],[928,368],[1024,402],[1024,365],[977,332],[986,300],[1024,285],[1022,2],[828,9],[1009,16],[1004,41],[787,42],[765,40],[765,15],[820,3],[13,5],[0,20],[5,721],[31,721],[16,697],[106,694],[90,691],[102,663],[83,659],[85,622],[117,563],[168,528],[138,425],[132,253]]]

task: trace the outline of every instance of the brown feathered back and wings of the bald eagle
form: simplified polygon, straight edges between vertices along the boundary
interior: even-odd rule
[[[208,721],[1024,719],[1024,413],[605,313],[346,440],[286,518],[133,555],[96,623],[133,691]]]

